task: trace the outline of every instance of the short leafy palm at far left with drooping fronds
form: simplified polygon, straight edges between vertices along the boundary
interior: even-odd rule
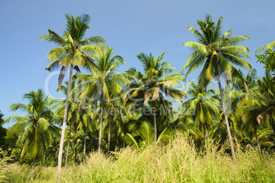
[[[10,111],[23,111],[28,115],[15,115],[5,119],[5,122],[15,122],[8,129],[7,137],[20,135],[18,144],[22,144],[21,158],[28,155],[33,163],[31,165],[31,180],[34,180],[34,167],[36,160],[44,157],[49,151],[51,136],[58,136],[58,128],[51,124],[53,113],[49,106],[53,103],[51,98],[45,96],[41,89],[36,92],[24,94],[29,104],[12,104]]]

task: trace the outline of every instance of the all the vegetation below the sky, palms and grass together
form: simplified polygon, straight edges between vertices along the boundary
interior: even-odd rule
[[[274,40],[250,50],[206,14],[176,67],[146,50],[121,71],[88,14],[60,18],[37,41],[64,98],[32,88],[0,113],[0,182],[275,182]]]

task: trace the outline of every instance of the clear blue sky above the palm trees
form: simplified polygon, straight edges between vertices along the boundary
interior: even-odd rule
[[[54,44],[40,42],[40,36],[52,29],[62,35],[66,20],[64,14],[89,14],[90,29],[86,38],[102,36],[114,53],[125,58],[123,72],[135,66],[138,53],[163,52],[180,72],[192,53],[183,42],[196,39],[187,30],[195,27],[196,20],[204,20],[207,13],[215,22],[224,17],[223,32],[233,29],[233,36],[248,36],[251,40],[241,45],[250,49],[249,63],[263,76],[263,65],[256,64],[255,51],[274,41],[274,0],[36,0],[0,2],[0,110],[9,117],[21,115],[10,112],[13,103],[26,103],[23,94],[39,88],[47,94],[61,97],[55,92],[58,72],[44,70],[49,65],[47,53]],[[200,70],[188,79],[196,79]],[[11,124],[5,124],[4,127]]]

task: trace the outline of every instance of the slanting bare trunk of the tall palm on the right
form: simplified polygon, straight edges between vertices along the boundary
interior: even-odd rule
[[[232,137],[231,137],[231,132],[230,132],[230,128],[229,128],[228,117],[227,117],[227,113],[226,113],[226,109],[225,109],[224,93],[222,92],[222,85],[220,83],[220,76],[217,75],[216,78],[217,78],[219,89],[220,89],[220,98],[222,99],[222,109],[224,111],[224,119],[225,119],[225,123],[226,123],[226,129],[227,129],[227,133],[228,133],[228,139],[229,139],[229,143],[230,143],[230,147],[231,147],[232,158],[235,161],[236,160],[235,150],[234,150],[234,146],[233,146],[233,142],[232,142]]]

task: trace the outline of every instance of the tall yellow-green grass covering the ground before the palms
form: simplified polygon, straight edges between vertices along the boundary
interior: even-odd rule
[[[194,143],[178,135],[166,146],[126,148],[114,156],[93,153],[86,163],[62,172],[62,182],[275,182],[274,154],[237,153],[237,162],[213,141],[198,153]],[[10,165],[10,182],[28,182],[31,169]],[[55,182],[55,167],[36,168],[34,182]]]

